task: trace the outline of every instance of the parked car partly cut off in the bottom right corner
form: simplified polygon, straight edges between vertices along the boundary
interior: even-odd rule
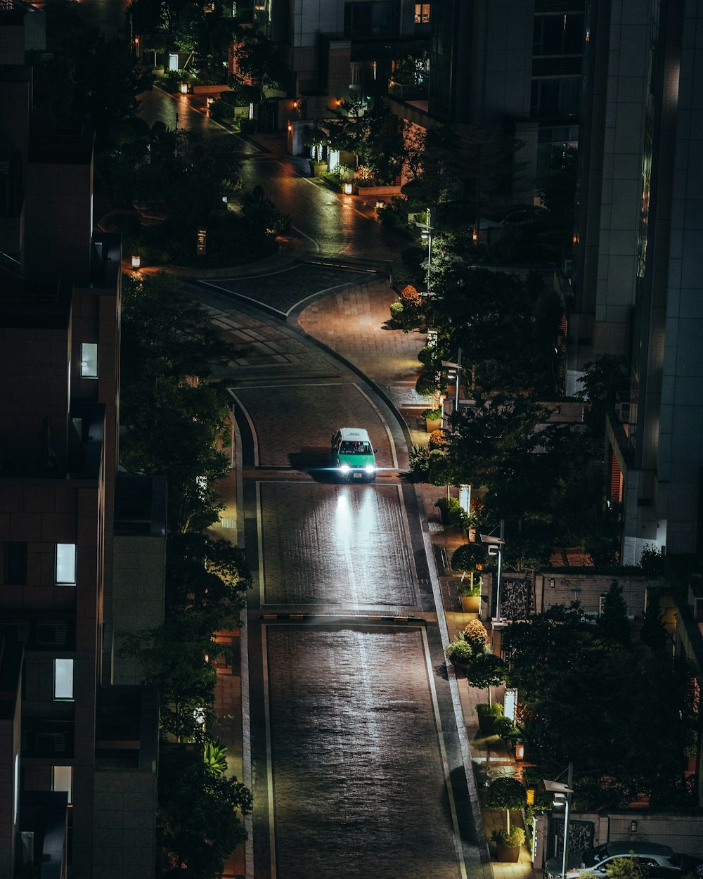
[[[607,875],[608,864],[614,858],[633,856],[640,873],[646,879],[676,879],[686,873],[693,873],[703,879],[703,861],[691,854],[676,854],[670,846],[658,842],[627,840],[625,842],[606,842],[598,848],[587,848],[582,852],[569,852],[567,875],[569,879],[593,875],[596,879]],[[549,858],[545,865],[546,879],[557,879],[562,875],[562,858]]]

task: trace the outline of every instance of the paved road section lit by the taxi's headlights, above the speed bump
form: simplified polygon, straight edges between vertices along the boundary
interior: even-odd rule
[[[267,604],[416,605],[395,485],[259,488]]]

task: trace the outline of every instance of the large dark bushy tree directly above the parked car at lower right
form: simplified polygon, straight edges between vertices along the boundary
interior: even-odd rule
[[[653,805],[687,802],[682,757],[697,715],[685,663],[603,640],[577,602],[510,624],[503,643],[525,744],[542,777],[574,762],[577,796],[593,808],[641,795]]]

